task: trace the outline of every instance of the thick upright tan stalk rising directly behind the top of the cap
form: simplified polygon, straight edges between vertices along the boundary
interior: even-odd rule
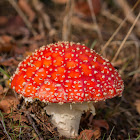
[[[71,18],[73,15],[73,7],[74,7],[74,1],[68,0],[67,6],[66,6],[66,15],[63,19],[63,28],[62,28],[62,40],[67,41],[70,39],[70,33],[71,33]]]

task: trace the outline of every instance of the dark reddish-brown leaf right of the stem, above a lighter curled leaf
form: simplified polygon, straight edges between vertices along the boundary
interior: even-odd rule
[[[93,127],[102,127],[109,130],[109,125],[106,120],[93,120]]]

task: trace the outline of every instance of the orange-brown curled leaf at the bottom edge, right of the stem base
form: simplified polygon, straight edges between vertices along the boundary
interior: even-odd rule
[[[101,136],[100,128],[95,130],[83,130],[80,135],[78,136],[78,140],[94,140],[98,139]]]

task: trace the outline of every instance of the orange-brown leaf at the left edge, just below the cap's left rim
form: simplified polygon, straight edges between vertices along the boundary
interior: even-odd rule
[[[19,104],[19,100],[12,96],[2,96],[0,95],[0,110],[4,113],[10,113],[11,108],[16,108],[17,104]]]

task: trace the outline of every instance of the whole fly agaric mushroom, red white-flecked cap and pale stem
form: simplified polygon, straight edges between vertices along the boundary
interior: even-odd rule
[[[60,135],[78,135],[81,115],[93,102],[121,96],[124,85],[117,70],[85,45],[58,42],[41,47],[22,61],[11,88],[28,101],[39,99]],[[58,104],[57,104],[58,103]]]

